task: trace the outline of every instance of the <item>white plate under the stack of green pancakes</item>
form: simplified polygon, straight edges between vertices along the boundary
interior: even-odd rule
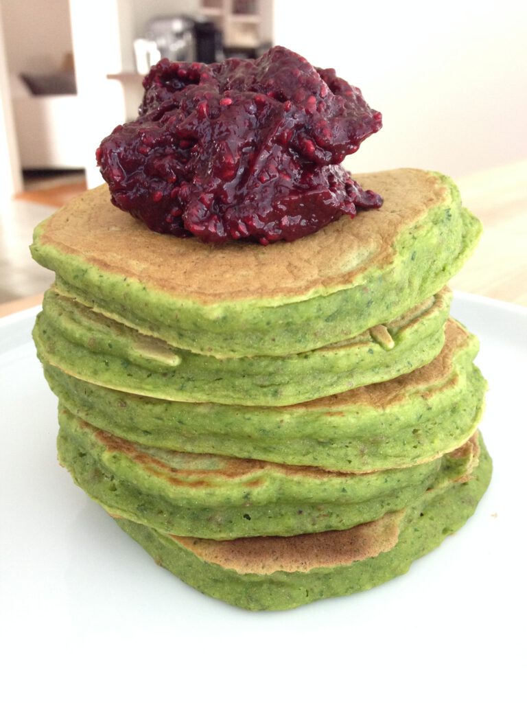
[[[36,311],[0,321],[4,700],[48,686],[55,700],[520,699],[527,309],[466,294],[453,305],[480,337],[490,384],[482,429],[495,475],[476,515],[405,576],[282,613],[197,593],[74,486],[56,460]]]

